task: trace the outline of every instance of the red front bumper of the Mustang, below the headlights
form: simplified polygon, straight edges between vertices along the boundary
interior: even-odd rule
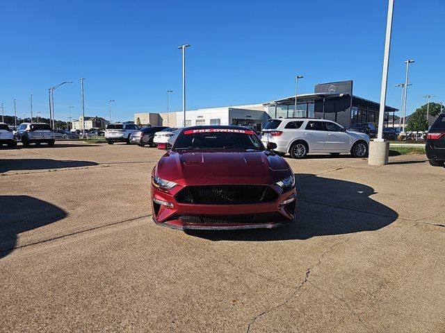
[[[292,198],[290,203],[281,205],[284,200]],[[154,199],[170,203],[172,207],[156,203]],[[177,203],[174,194],[152,186],[154,223],[181,230],[277,228],[293,222],[295,207],[295,189],[280,194],[273,203],[198,205]]]

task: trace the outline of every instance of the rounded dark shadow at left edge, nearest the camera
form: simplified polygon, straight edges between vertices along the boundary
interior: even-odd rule
[[[21,232],[65,218],[59,207],[32,196],[0,196],[0,259],[14,250]]]

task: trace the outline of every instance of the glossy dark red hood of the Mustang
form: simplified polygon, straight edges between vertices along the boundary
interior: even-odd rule
[[[269,151],[170,151],[154,173],[180,185],[274,184],[293,173]]]

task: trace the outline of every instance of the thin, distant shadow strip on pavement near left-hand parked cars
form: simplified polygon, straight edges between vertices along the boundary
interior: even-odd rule
[[[46,170],[46,169],[92,167],[94,165],[98,164],[96,162],[91,162],[91,161],[50,160],[47,158],[5,159],[1,160],[0,173],[6,171],[31,171],[31,170]]]

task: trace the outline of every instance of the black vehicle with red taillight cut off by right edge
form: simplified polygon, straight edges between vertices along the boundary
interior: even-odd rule
[[[426,157],[433,167],[445,164],[445,114],[439,114],[426,135]]]

